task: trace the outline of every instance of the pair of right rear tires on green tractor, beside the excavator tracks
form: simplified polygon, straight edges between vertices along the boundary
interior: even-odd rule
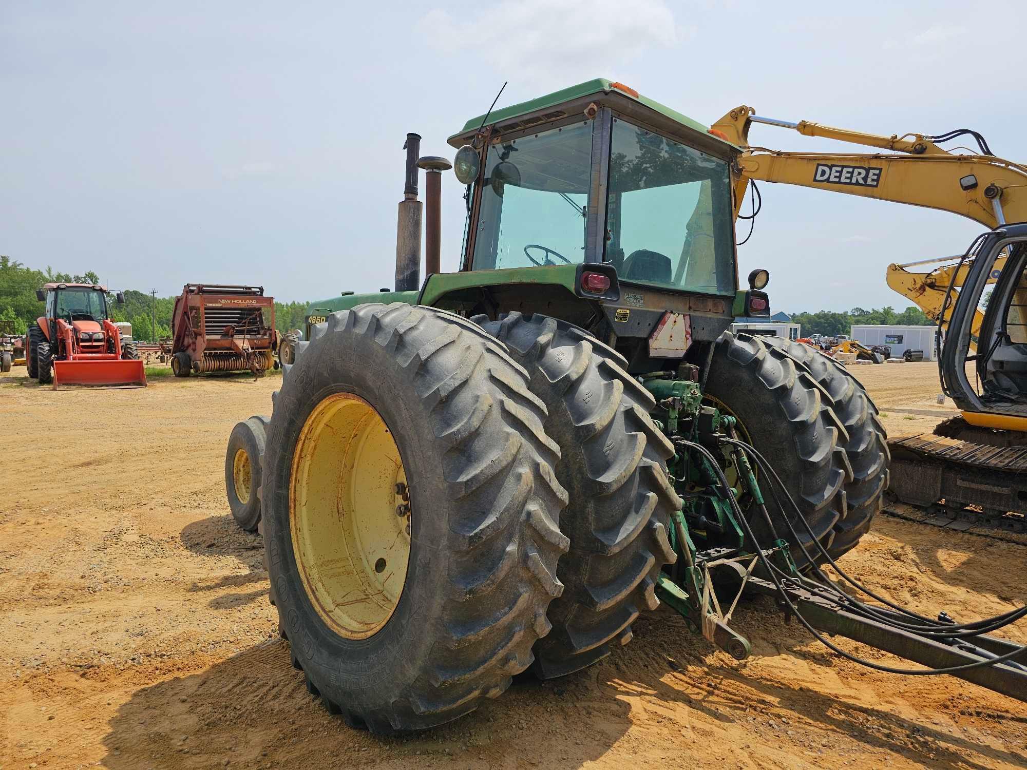
[[[714,348],[705,391],[722,411],[737,418],[739,434],[781,476],[809,523],[810,535],[785,502],[770,494],[759,473],[767,510],[779,537],[792,541],[787,516],[808,550],[792,543],[800,570],[851,549],[881,508],[887,488],[888,450],[877,410],[863,386],[813,348],[772,337],[724,333]],[[747,511],[759,544],[773,536],[755,507]],[[752,546],[752,544],[750,544]]]

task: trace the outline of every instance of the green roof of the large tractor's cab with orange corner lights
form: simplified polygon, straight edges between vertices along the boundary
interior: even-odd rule
[[[523,124],[524,127],[527,127],[535,123],[561,117],[561,115],[557,112],[554,112],[551,115],[545,114],[545,112],[554,110],[554,108],[566,102],[573,102],[591,95],[607,94],[631,100],[638,105],[642,105],[643,107],[652,110],[664,119],[670,119],[690,130],[706,134],[711,139],[726,145],[727,147],[737,149],[736,145],[733,145],[716,134],[710,133],[708,125],[705,125],[697,120],[693,120],[687,115],[682,115],[677,110],[672,110],[670,107],[661,105],[659,102],[655,102],[648,97],[643,97],[631,86],[626,86],[623,83],[618,83],[613,80],[607,80],[606,78],[595,78],[594,80],[587,80],[583,83],[572,85],[569,88],[563,88],[562,90],[547,93],[544,97],[539,97],[538,99],[521,102],[520,104],[503,107],[499,110],[493,110],[492,113],[488,115],[489,122],[487,125],[514,123],[511,126],[501,126],[501,128],[505,130],[511,130],[514,127],[521,127],[521,124]],[[534,115],[534,113],[542,114]],[[532,119],[524,121],[518,120],[519,118],[527,117],[529,115],[532,116]],[[482,121],[485,119],[486,116],[483,114],[468,120],[464,123],[463,128],[458,133],[454,133],[449,138],[449,144],[453,147],[460,147],[468,142],[478,129],[482,127]]]

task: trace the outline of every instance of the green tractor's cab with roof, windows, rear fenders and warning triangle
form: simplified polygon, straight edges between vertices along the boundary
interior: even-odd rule
[[[687,359],[735,315],[769,315],[765,271],[736,291],[739,149],[702,124],[592,80],[471,118],[449,142],[467,189],[462,270],[482,275],[430,276],[433,304],[559,314],[613,340],[633,371]]]

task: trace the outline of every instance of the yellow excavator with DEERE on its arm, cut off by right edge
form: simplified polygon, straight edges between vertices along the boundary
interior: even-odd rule
[[[878,152],[754,147],[753,123]],[[969,129],[885,137],[760,117],[741,106],[710,131],[746,148],[735,184],[736,218],[747,219],[746,193],[751,182],[760,181],[952,211],[987,228],[959,256],[888,267],[888,285],[944,333],[944,343],[942,337],[938,343],[942,389],[961,410],[934,434],[889,444],[889,489],[902,502],[946,514],[956,528],[986,519],[1027,531],[1027,166],[996,157]],[[961,138],[975,142],[977,150],[941,147]],[[755,214],[755,185],[751,195]],[[909,270],[929,264],[939,267]]]

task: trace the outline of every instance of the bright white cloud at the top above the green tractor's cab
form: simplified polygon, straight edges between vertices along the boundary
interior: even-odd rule
[[[507,0],[456,16],[433,8],[422,26],[440,50],[479,56],[524,79],[615,78],[610,67],[692,34],[663,0]]]

